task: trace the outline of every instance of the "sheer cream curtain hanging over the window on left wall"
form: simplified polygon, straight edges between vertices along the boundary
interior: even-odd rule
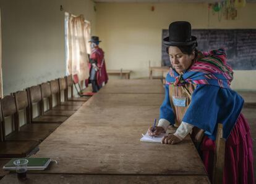
[[[85,22],[83,15],[75,17],[71,14],[67,18],[66,27],[66,63],[69,74],[78,74],[79,79],[89,77],[87,43],[90,38],[90,23]],[[89,46],[90,47],[90,46]]]

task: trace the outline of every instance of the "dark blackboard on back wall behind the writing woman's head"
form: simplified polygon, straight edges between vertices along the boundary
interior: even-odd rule
[[[168,36],[163,30],[162,38]],[[192,30],[200,51],[226,49],[228,63],[234,70],[256,70],[256,30]],[[170,66],[169,56],[162,39],[162,62]]]

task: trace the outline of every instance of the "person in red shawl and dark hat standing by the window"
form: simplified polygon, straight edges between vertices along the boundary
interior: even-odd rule
[[[93,92],[98,92],[103,83],[106,84],[108,82],[108,74],[106,73],[104,52],[98,46],[101,41],[98,36],[92,36],[89,42],[92,48],[89,63],[90,82],[92,83]]]

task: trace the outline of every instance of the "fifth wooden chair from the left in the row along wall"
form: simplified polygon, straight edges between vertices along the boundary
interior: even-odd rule
[[[61,110],[61,111],[73,111],[75,113],[80,106],[70,106],[70,105],[61,105],[61,93],[59,92],[59,81],[58,79],[50,81],[51,94],[56,98],[56,105],[52,106],[51,110]],[[53,105],[53,101],[52,101]]]

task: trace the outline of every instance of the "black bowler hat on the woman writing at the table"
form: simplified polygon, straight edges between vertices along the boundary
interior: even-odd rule
[[[190,46],[197,43],[197,38],[191,36],[191,25],[186,21],[172,22],[169,25],[169,36],[163,39],[167,46]]]

